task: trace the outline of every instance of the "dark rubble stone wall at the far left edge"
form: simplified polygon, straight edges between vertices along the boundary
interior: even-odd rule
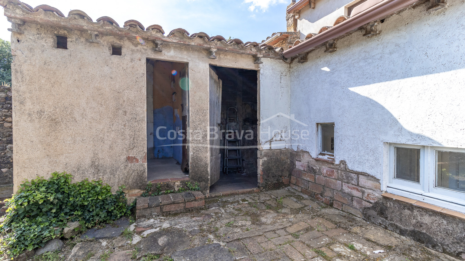
[[[13,185],[13,119],[11,87],[0,86],[0,186]]]

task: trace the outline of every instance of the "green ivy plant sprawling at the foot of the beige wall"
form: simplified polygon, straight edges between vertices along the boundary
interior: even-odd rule
[[[124,187],[112,194],[111,187],[101,180],[71,180],[71,174],[54,172],[49,179],[40,177],[21,184],[16,195],[6,201],[0,254],[13,257],[43,247],[61,237],[67,222],[78,221],[90,228],[130,214]]]

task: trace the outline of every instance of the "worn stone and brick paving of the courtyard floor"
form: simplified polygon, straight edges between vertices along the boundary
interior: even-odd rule
[[[144,259],[149,254],[174,261],[458,260],[289,188],[210,198],[206,206],[139,220],[129,226],[131,240],[131,235],[100,239],[90,260],[100,260],[105,251],[113,252],[111,261],[158,260]],[[377,250],[384,252],[374,254]]]

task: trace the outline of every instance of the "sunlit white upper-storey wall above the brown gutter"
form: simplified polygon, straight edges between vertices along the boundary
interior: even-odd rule
[[[297,31],[300,31],[300,39],[305,39],[309,33],[318,33],[323,26],[332,26],[336,19],[344,15],[344,7],[352,0],[316,0],[315,9],[310,5],[300,10],[297,20]]]

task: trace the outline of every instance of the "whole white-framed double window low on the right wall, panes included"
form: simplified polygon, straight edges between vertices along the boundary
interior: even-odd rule
[[[465,213],[465,149],[389,144],[387,191]]]

